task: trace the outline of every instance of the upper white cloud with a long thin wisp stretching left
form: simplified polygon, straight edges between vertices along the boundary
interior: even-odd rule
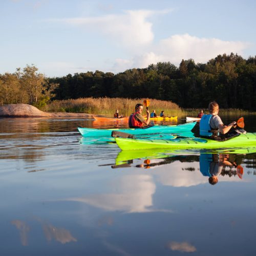
[[[165,14],[169,11],[129,10],[121,15],[48,19],[48,21],[84,26],[94,32],[96,29],[120,46],[135,47],[149,44],[154,39],[152,23],[146,19],[154,14]]]

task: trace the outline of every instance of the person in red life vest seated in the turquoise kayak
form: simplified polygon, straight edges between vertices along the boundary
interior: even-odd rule
[[[130,128],[143,128],[150,123],[150,112],[146,110],[146,119],[142,116],[143,105],[138,103],[135,106],[135,113],[129,117]]]

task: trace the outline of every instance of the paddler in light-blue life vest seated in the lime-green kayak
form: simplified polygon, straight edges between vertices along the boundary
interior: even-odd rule
[[[200,120],[199,131],[200,136],[210,137],[212,139],[223,138],[224,134],[227,134],[229,130],[236,126],[237,122],[231,122],[228,125],[224,125],[221,118],[218,116],[219,104],[215,101],[209,103],[209,114],[203,115]],[[219,137],[220,135],[220,137]]]

